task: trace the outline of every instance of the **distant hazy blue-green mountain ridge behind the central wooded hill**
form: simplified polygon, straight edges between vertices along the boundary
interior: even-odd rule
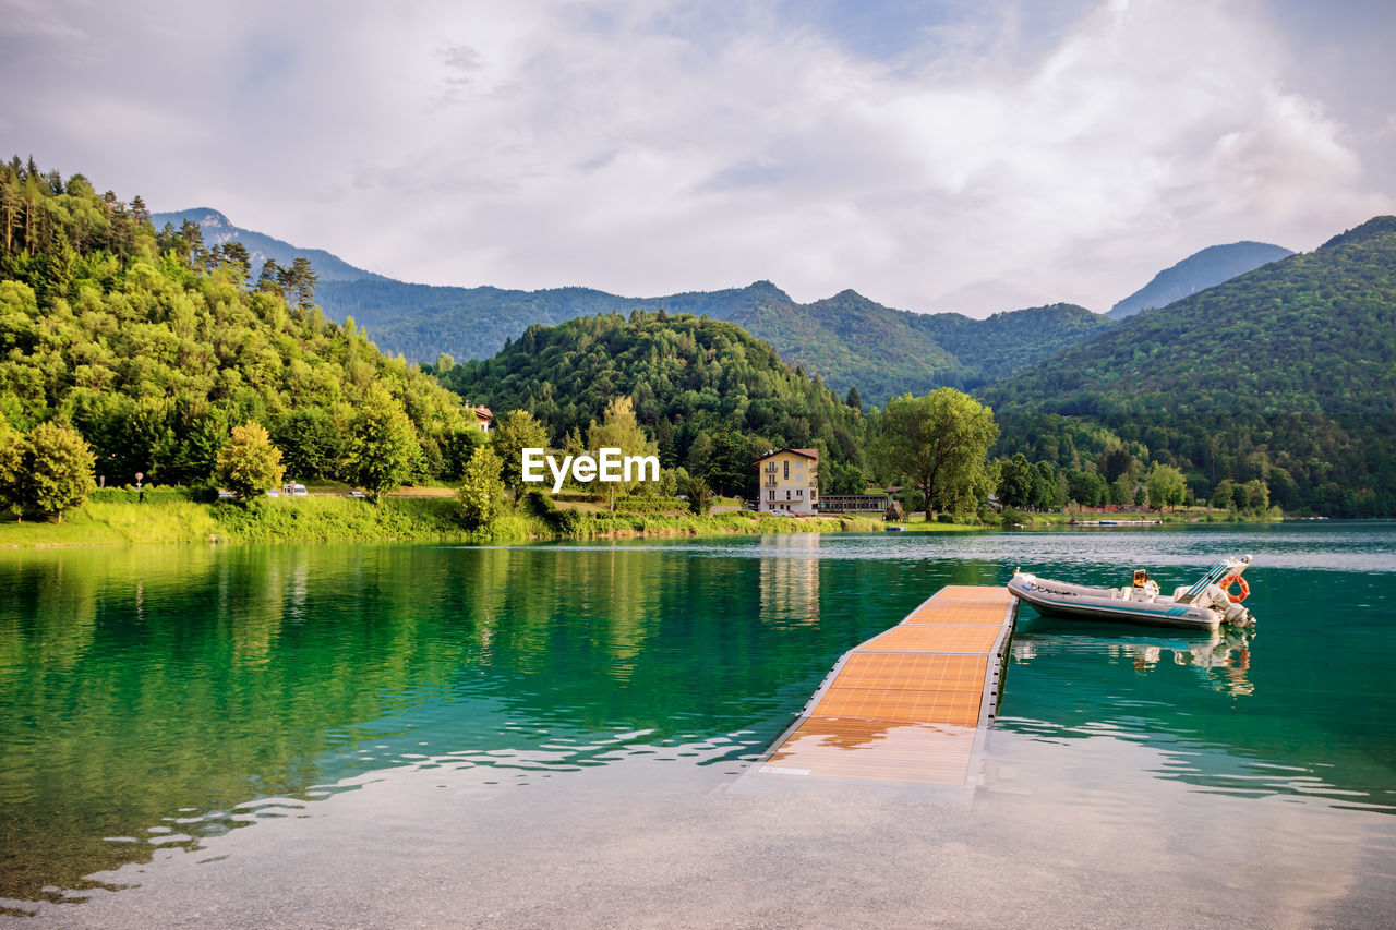
[[[906,391],[979,387],[1111,325],[1072,304],[987,320],[895,310],[853,290],[801,304],[768,281],[663,297],[621,297],[588,288],[501,290],[336,281],[321,283],[317,297],[331,317],[352,316],[378,345],[419,362],[441,352],[455,359],[489,356],[533,323],[556,325],[597,313],[660,309],[708,316],[736,323],[840,392],[857,385],[871,404]]]

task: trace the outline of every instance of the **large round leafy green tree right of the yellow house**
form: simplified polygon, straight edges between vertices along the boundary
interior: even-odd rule
[[[888,401],[878,451],[886,465],[920,489],[926,510],[960,508],[990,478],[987,455],[998,438],[994,412],[967,394],[940,388]]]

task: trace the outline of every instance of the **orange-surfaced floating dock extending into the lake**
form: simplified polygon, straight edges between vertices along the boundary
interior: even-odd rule
[[[846,652],[752,775],[970,785],[1015,616],[1005,588],[941,588]]]

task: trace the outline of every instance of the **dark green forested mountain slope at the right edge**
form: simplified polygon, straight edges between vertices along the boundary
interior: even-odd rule
[[[1396,514],[1396,218],[1145,310],[983,394],[1033,423],[1019,436],[1103,425],[1199,493],[1263,478],[1286,507]]]

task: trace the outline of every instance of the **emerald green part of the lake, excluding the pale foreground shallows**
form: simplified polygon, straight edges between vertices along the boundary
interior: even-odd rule
[[[603,772],[702,793],[842,652],[945,584],[1002,584],[1015,566],[1121,584],[1148,566],[1167,589],[1233,552],[1255,554],[1249,635],[1025,609],[991,771],[1082,803],[1061,772],[1089,762],[1093,785],[1181,786],[1224,799],[1222,817],[1279,799],[1342,811],[1325,827],[1339,834],[1386,831],[1392,524],[0,553],[0,903],[138,896],[159,862],[216,860],[226,834],[334,811],[346,792],[388,799],[403,774],[445,788],[469,772],[482,799],[544,806]],[[625,790],[642,831],[645,789]],[[510,810],[501,834],[542,829],[536,809]]]

